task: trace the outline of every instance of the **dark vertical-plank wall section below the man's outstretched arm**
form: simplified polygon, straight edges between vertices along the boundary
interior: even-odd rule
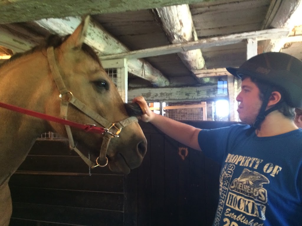
[[[233,124],[185,123],[203,129]],[[148,141],[148,151],[136,170],[137,224],[132,225],[212,225],[218,202],[220,166],[151,124],[141,123],[141,126]],[[186,157],[182,159],[179,152]]]

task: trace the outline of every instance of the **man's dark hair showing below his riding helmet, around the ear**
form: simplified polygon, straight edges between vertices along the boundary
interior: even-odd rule
[[[249,76],[244,76],[242,78],[242,80],[246,79],[247,77],[249,77]],[[295,108],[290,107],[288,105],[288,103],[285,101],[285,98],[284,98],[285,94],[284,94],[284,91],[281,88],[279,88],[277,86],[273,86],[269,83],[266,83],[262,80],[259,80],[259,79],[255,78],[255,77],[249,77],[249,78],[259,88],[259,90],[260,90],[259,98],[262,101],[264,101],[264,95],[265,95],[265,92],[268,88],[271,88],[271,90],[273,90],[273,91],[279,92],[281,94],[281,100],[279,101],[280,102],[280,107],[278,108],[278,111],[281,112],[284,115],[284,117],[289,118],[291,120],[294,120],[294,118],[295,118]]]

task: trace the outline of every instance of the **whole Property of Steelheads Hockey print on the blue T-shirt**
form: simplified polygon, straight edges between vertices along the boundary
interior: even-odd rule
[[[220,199],[213,225],[263,226],[268,202],[266,185],[270,183],[267,176],[274,178],[281,169],[263,159],[228,154],[220,173]],[[233,177],[239,170],[239,176]]]

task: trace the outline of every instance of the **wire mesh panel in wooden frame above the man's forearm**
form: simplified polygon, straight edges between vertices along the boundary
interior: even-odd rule
[[[186,105],[200,104],[200,102],[185,103]],[[184,105],[184,103],[168,104],[169,106]],[[203,112],[202,108],[182,108],[182,109],[165,109],[165,116],[174,120],[187,120],[187,121],[202,121]]]

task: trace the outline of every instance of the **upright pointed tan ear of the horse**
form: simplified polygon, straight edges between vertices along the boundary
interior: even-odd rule
[[[76,30],[63,42],[62,47],[68,49],[81,49],[87,34],[90,16],[86,16]]]

